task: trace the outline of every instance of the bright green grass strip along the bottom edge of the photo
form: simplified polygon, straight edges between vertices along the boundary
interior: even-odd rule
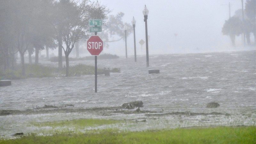
[[[166,144],[166,143],[234,143],[255,144],[256,127],[207,127],[207,128],[179,128],[169,130],[154,130],[144,132],[118,132],[116,130],[102,130],[97,133],[70,134],[60,133],[52,136],[29,136],[13,140],[0,140],[3,144]]]

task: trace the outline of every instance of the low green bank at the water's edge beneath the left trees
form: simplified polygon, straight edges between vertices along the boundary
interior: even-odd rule
[[[21,67],[18,65],[15,69],[3,70],[0,69],[0,80],[3,79],[24,79],[24,78],[42,78],[42,77],[56,77],[65,76],[66,68],[58,69],[55,67],[46,67],[43,65],[29,65],[26,64],[26,75],[23,76]],[[98,71],[104,71],[102,68],[98,68]],[[111,69],[111,72],[118,72],[118,68]],[[69,67],[69,76],[82,76],[82,75],[93,75],[94,66],[78,64]]]

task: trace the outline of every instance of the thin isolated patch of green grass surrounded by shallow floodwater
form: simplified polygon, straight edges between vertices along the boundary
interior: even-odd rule
[[[107,119],[75,119],[65,121],[53,121],[44,123],[33,123],[34,126],[51,126],[51,127],[89,127],[89,126],[100,126],[105,124],[117,124],[121,123],[121,120],[107,120]]]

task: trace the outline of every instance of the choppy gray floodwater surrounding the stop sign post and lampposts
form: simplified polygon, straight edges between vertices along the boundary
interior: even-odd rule
[[[18,111],[0,116],[0,135],[39,132],[32,122],[77,118],[146,120],[132,124],[129,130],[255,125],[255,53],[151,54],[149,68],[145,56],[139,56],[136,63],[132,56],[98,60],[98,67],[117,67],[121,73],[99,75],[97,93],[94,75],[12,80],[12,86],[0,88],[0,110]],[[79,63],[94,65],[94,60],[71,61],[70,65]],[[148,69],[160,69],[160,74],[148,74]],[[144,107],[139,113],[120,108],[130,101],[142,101]],[[220,107],[206,108],[209,102]],[[65,107],[71,104],[74,107]],[[65,109],[35,110],[44,105]]]

